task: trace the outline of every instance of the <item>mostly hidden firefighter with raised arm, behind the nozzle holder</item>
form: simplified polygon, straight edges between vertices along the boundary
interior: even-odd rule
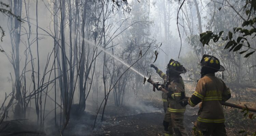
[[[155,65],[151,64],[150,67],[154,68],[156,70],[156,73],[159,74],[159,76],[163,79],[163,84],[165,85],[166,84],[166,81],[167,81],[167,74],[163,73],[160,69],[158,69]],[[167,102],[167,95],[165,92],[162,92],[162,101],[163,101],[163,110],[167,111],[167,108],[168,108],[168,102]]]

